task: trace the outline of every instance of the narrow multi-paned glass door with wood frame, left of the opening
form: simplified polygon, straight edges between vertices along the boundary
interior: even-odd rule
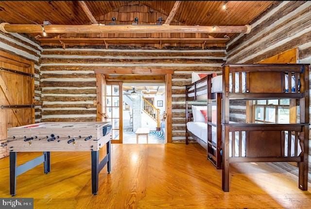
[[[122,83],[107,82],[104,98],[106,121],[112,123],[112,143],[122,143]]]

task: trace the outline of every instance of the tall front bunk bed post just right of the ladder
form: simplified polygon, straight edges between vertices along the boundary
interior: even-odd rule
[[[222,115],[222,188],[229,192],[229,66],[223,67],[223,115]]]

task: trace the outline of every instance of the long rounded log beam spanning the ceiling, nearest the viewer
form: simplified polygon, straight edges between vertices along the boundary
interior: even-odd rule
[[[193,26],[193,25],[45,25],[50,34],[139,34],[139,33],[207,33],[207,34],[247,34],[249,25],[242,26]],[[4,33],[42,33],[42,26],[37,24],[0,23]]]

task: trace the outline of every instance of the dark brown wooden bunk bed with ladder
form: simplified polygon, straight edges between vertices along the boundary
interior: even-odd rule
[[[294,101],[299,105],[299,121],[230,122],[230,100],[263,99]],[[242,162],[297,162],[298,188],[308,190],[309,65],[224,64],[222,75],[207,75],[186,86],[186,123],[193,118],[189,112],[190,101],[207,102],[205,148],[208,159],[222,169],[222,189],[225,192],[229,191],[229,164]],[[212,110],[215,108],[217,114],[213,119]],[[246,110],[247,114],[251,113]],[[188,134],[194,134],[188,128],[186,134],[188,144]],[[197,136],[193,139],[204,141]]]

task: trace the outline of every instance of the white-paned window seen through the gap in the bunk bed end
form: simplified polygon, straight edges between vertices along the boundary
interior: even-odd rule
[[[253,101],[253,121],[257,123],[289,123],[290,100],[256,100]]]

